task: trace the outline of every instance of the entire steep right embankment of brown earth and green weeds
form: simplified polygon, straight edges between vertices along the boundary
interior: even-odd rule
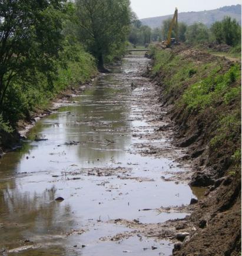
[[[174,255],[240,255],[241,65],[184,47],[154,47],[150,57],[174,142],[193,159],[190,185],[207,187],[189,219],[196,232]]]

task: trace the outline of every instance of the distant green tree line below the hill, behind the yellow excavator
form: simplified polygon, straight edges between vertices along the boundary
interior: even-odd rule
[[[134,19],[129,40],[132,44],[147,44],[151,41],[167,40],[170,23],[171,19],[166,19],[160,28],[151,29]],[[174,29],[172,37],[175,37]],[[234,47],[241,44],[241,26],[236,19],[231,17],[224,17],[222,21],[214,22],[211,28],[202,23],[188,26],[184,22],[178,22],[178,41],[190,45],[216,42]]]

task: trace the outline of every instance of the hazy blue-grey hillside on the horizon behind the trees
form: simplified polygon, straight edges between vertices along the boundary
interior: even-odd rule
[[[145,18],[141,19],[141,22],[142,24],[148,25],[151,28],[157,28],[160,27],[165,19],[171,18],[172,16],[173,14],[161,17]],[[215,21],[221,21],[224,16],[236,18],[241,24],[241,5],[224,6],[210,11],[181,12],[178,19],[180,22],[185,22],[188,25],[191,25],[194,22],[202,22],[210,27]]]

